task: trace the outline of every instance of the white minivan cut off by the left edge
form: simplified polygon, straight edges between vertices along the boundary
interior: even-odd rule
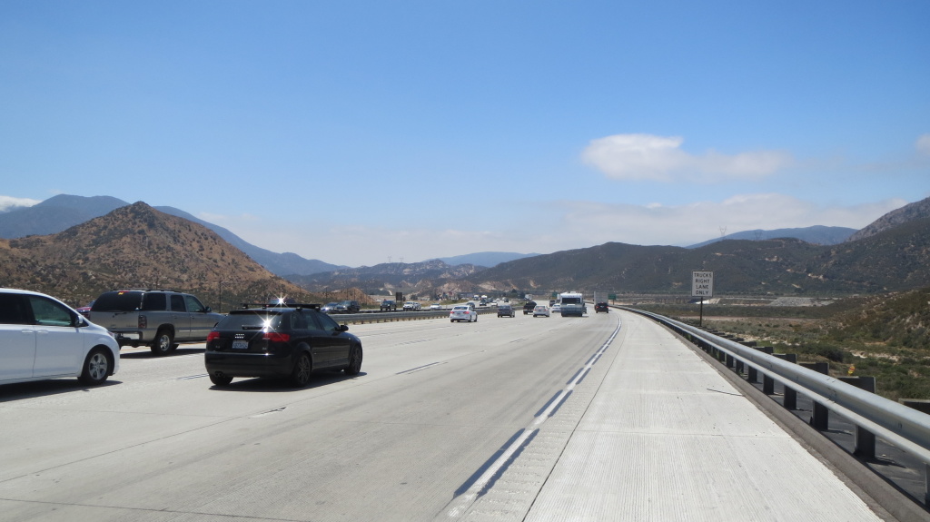
[[[100,385],[119,370],[113,335],[58,299],[0,288],[0,385],[77,377]]]

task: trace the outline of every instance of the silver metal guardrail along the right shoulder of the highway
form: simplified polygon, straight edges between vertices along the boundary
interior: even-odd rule
[[[925,465],[930,464],[930,415],[695,326],[644,310],[621,308],[665,324],[704,349],[712,347],[755,368],[782,385],[812,398],[830,411],[843,415],[853,424],[882,437]]]

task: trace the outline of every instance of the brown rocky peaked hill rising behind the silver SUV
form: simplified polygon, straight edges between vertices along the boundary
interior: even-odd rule
[[[0,285],[51,294],[74,306],[114,288],[190,292],[216,309],[272,295],[313,299],[215,232],[144,202],[58,234],[0,240]]]

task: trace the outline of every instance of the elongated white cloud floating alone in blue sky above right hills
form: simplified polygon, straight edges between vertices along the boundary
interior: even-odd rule
[[[682,137],[618,134],[591,140],[581,159],[617,179],[722,181],[757,179],[793,163],[790,154],[759,150],[727,155],[709,150],[701,156],[681,149]]]

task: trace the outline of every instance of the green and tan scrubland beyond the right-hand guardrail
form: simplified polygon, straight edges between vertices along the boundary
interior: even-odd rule
[[[643,306],[697,324],[695,305]],[[870,375],[886,398],[930,399],[930,288],[846,297],[823,307],[704,306],[703,325],[830,374]]]

